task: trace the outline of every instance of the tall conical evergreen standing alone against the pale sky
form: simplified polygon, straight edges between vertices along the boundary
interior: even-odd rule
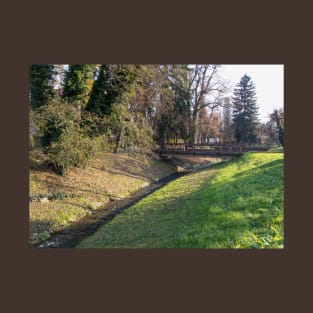
[[[244,75],[237,84],[232,97],[233,125],[237,142],[257,141],[258,107],[255,85],[251,77]]]

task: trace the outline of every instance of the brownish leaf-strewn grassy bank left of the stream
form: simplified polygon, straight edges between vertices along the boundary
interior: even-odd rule
[[[53,232],[109,201],[129,197],[151,182],[176,172],[176,167],[147,155],[105,153],[93,158],[86,168],[74,168],[60,176],[39,165],[40,155],[31,157],[31,244],[48,239]]]

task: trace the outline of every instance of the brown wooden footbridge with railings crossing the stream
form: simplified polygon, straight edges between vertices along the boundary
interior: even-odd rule
[[[162,154],[194,154],[212,156],[240,156],[247,151],[267,151],[270,145],[226,143],[226,144],[160,144],[155,152]]]

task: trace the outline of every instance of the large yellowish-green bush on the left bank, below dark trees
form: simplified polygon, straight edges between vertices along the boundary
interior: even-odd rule
[[[78,121],[76,107],[54,99],[31,115],[36,134],[30,136],[29,148],[38,142],[45,164],[61,175],[70,167],[84,167],[91,156],[110,150],[106,119],[87,114]]]

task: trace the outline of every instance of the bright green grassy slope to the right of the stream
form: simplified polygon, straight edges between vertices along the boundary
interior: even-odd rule
[[[283,248],[283,154],[247,153],[183,176],[79,248]]]

